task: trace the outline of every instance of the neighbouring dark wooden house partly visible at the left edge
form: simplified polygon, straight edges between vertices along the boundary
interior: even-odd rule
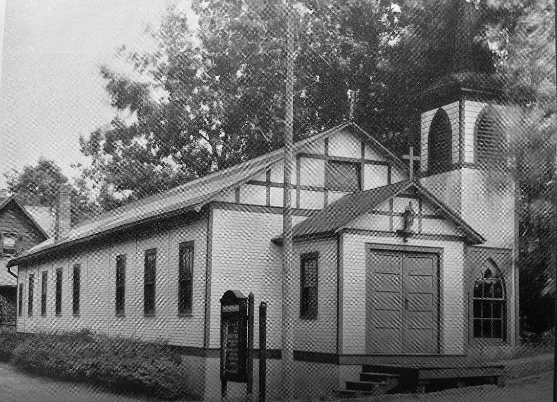
[[[6,262],[48,239],[53,229],[49,207],[21,205],[6,190],[0,192],[0,296],[8,302],[7,326],[16,325],[17,269],[8,272]]]

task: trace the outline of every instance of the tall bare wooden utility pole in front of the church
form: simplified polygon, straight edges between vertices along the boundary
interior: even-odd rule
[[[294,400],[292,364],[292,131],[294,125],[294,2],[286,2],[286,99],[284,130],[284,207],[282,210],[282,349],[281,399]]]

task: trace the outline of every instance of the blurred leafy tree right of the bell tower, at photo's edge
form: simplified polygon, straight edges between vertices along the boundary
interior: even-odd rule
[[[488,37],[513,110],[510,155],[520,187],[520,294],[525,330],[553,326],[555,297],[555,11],[548,0],[489,3]]]

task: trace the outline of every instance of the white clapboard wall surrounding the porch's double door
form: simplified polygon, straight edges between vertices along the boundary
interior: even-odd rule
[[[346,233],[343,236],[343,353],[365,353],[365,244],[403,245],[402,238]],[[463,243],[413,239],[413,246],[443,249],[442,294],[443,350],[446,355],[463,353],[464,299],[463,299]]]

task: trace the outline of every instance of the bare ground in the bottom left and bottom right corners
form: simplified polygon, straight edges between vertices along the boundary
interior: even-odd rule
[[[549,402],[553,373],[507,380],[505,388],[480,385],[424,395],[384,395],[377,402]],[[138,402],[132,398],[71,382],[32,377],[0,363],[0,402]]]

